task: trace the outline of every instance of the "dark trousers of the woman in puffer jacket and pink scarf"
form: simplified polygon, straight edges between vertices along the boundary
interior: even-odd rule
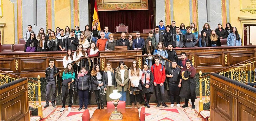
[[[89,89],[87,90],[79,90],[78,89],[78,96],[79,96],[79,105],[80,108],[83,108],[83,103],[85,105],[85,108],[87,108],[88,105],[88,97],[89,97]]]

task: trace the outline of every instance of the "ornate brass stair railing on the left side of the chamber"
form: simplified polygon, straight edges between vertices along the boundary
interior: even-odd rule
[[[23,78],[18,75],[4,72],[1,70],[0,73],[0,85],[4,85],[9,82]],[[33,108],[38,108],[38,116],[43,118],[43,110],[41,105],[41,81],[39,75],[37,79],[38,81],[28,79],[28,101],[31,105],[33,105]],[[39,103],[37,103],[37,101]]]

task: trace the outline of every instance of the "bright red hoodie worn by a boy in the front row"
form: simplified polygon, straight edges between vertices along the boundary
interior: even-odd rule
[[[154,69],[153,69],[153,66],[155,66]],[[165,81],[164,66],[163,66],[163,70],[162,70],[161,64],[159,64],[158,66],[156,64],[154,64],[153,66],[151,66],[151,72],[154,74],[154,82],[156,82],[156,84],[164,83],[164,81]]]

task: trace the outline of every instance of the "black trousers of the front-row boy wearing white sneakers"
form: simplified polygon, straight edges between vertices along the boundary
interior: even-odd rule
[[[179,84],[169,84],[169,92],[171,97],[171,104],[174,104],[174,100],[177,104],[180,103],[180,88],[178,87]]]

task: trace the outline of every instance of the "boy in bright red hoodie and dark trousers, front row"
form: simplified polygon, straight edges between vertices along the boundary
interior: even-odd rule
[[[168,107],[164,103],[164,81],[165,81],[165,69],[164,66],[159,63],[158,56],[154,57],[155,64],[151,66],[151,72],[154,75],[154,87],[156,91],[156,99],[157,99],[157,106],[159,107],[161,105],[161,102],[164,107]],[[161,93],[161,94],[160,94]]]

